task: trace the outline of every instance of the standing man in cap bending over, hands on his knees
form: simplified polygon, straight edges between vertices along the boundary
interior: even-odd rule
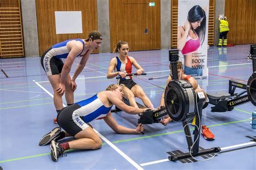
[[[87,39],[69,39],[46,50],[41,57],[41,64],[48,76],[54,92],[53,101],[57,113],[63,108],[62,95],[68,105],[74,103],[73,91],[76,90],[77,76],[82,72],[91,52],[102,43],[102,34],[92,31]],[[71,79],[70,70],[76,57],[82,57]],[[66,58],[65,63],[62,58]]]

